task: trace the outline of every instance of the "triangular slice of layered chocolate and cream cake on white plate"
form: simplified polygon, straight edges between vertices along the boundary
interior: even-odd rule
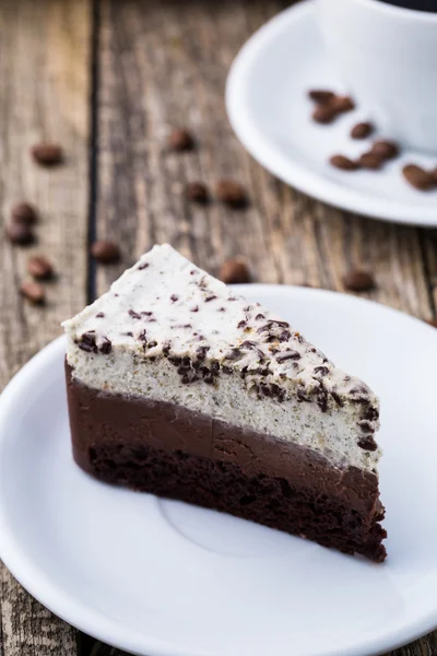
[[[85,471],[385,559],[378,399],[287,321],[163,245],[63,326]]]

